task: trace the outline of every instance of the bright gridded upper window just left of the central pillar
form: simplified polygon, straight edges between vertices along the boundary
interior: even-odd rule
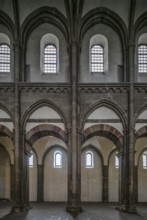
[[[57,49],[51,44],[44,48],[44,73],[57,73]]]

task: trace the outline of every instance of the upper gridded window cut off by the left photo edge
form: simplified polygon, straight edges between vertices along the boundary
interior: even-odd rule
[[[10,48],[6,44],[0,45],[0,72],[10,72]]]

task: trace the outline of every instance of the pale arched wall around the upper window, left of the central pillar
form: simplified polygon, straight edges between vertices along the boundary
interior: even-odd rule
[[[49,36],[48,43],[50,43],[49,40],[51,40],[51,42],[57,45],[57,58],[59,64],[57,74],[45,74],[42,71],[43,45],[47,42],[47,36]],[[56,36],[54,40],[53,36]],[[69,58],[65,48],[67,48],[67,42],[59,28],[50,23],[38,25],[27,39],[24,80],[27,82],[69,82]]]

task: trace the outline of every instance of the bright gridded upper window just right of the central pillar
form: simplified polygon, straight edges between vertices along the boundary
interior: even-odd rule
[[[100,45],[91,47],[91,72],[104,72],[104,50]]]

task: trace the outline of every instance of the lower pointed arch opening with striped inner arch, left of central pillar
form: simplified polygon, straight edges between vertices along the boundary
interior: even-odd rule
[[[58,112],[51,106],[41,105],[26,117],[26,140],[31,146],[28,164],[30,201],[67,200],[65,125]],[[40,114],[42,118],[38,119]],[[59,155],[55,154],[57,152]],[[61,187],[62,191],[59,190]]]

